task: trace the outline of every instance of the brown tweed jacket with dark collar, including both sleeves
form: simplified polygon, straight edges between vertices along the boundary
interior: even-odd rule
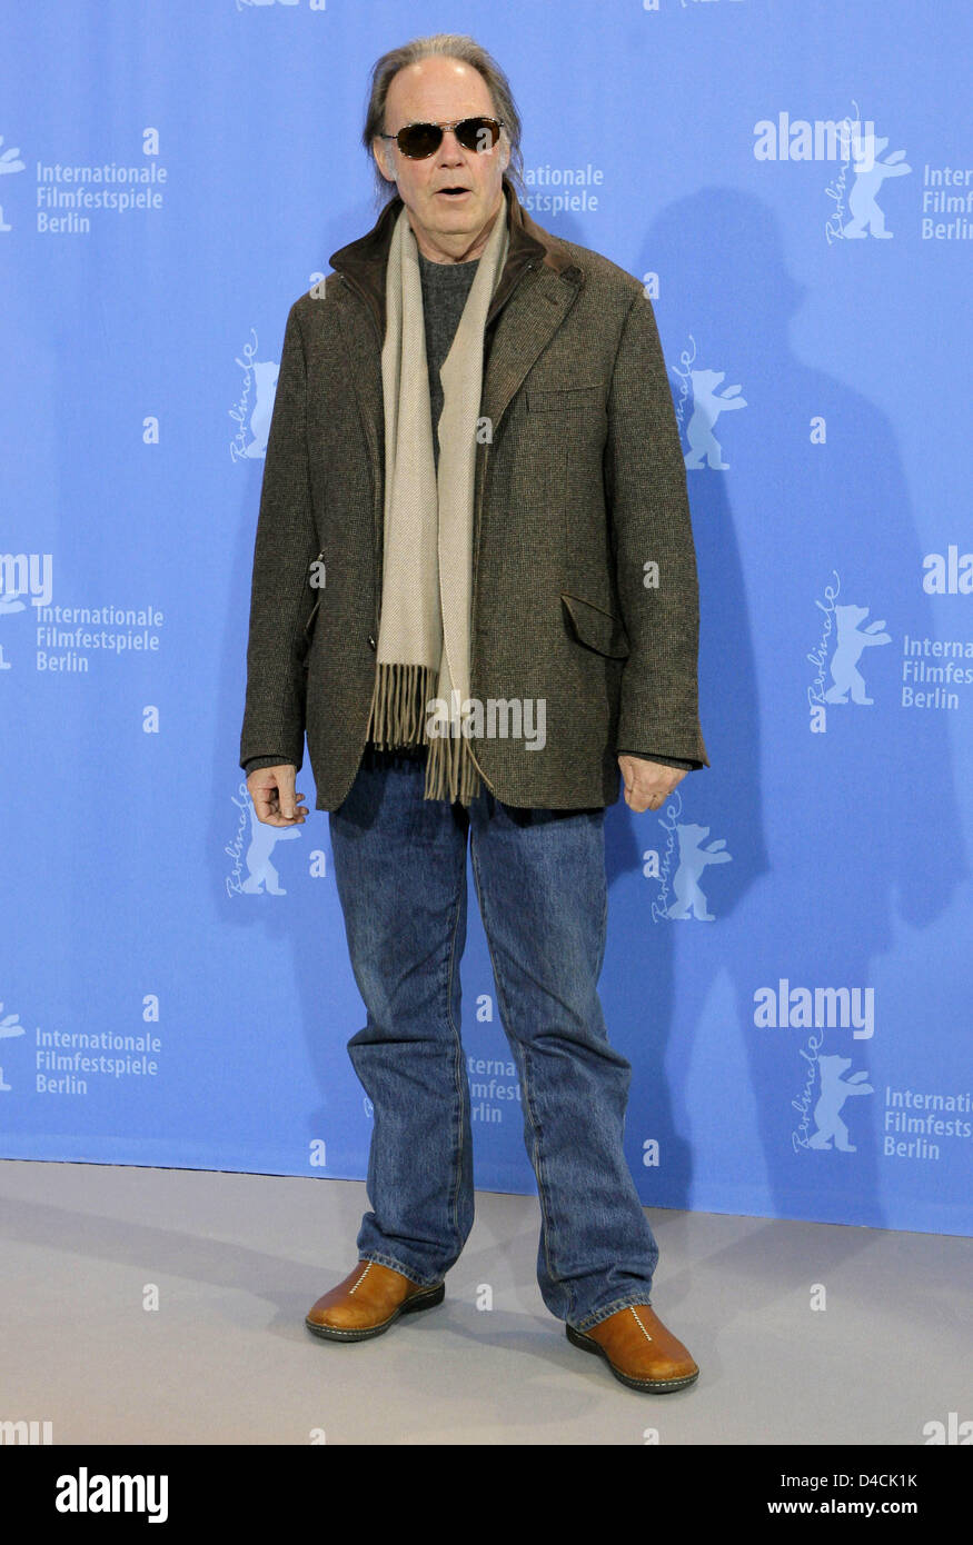
[[[605,806],[619,749],[708,766],[682,448],[642,284],[537,226],[506,178],[504,195],[473,484],[470,698],[484,722],[470,748],[507,805]],[[393,198],[291,306],[268,436],[240,765],[300,769],[306,735],[317,810],[351,788],[376,677],[401,209]]]

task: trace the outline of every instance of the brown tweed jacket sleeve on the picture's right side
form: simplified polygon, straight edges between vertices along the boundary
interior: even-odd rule
[[[685,465],[651,301],[625,318],[608,399],[605,493],[630,654],[617,743],[708,766],[699,726],[699,587]],[[645,586],[647,562],[657,586]]]

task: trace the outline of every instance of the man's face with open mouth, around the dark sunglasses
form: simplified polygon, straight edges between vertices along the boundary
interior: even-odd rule
[[[453,124],[463,117],[497,117],[486,80],[459,59],[421,59],[399,70],[385,102],[385,133],[405,124]],[[452,128],[425,161],[410,161],[394,139],[374,139],[382,176],[396,182],[424,256],[436,263],[480,256],[503,199],[510,159],[506,134],[492,150],[466,150]],[[449,193],[446,188],[461,188]]]

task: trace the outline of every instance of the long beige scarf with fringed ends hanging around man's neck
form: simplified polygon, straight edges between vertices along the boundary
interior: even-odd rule
[[[402,209],[385,275],[385,555],[368,734],[388,749],[428,745],[425,799],[469,805],[480,776],[461,732],[470,692],[473,476],[483,332],[507,253],[506,198],[442,362],[433,462],[419,249]],[[433,698],[439,698],[436,717]]]

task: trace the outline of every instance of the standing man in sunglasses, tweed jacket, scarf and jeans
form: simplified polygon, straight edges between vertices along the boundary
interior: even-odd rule
[[[364,139],[396,195],[288,317],[240,749],[258,817],[303,823],[306,731],[368,1017],[348,1051],[374,1106],[373,1210],[306,1324],[359,1341],[441,1302],[472,1228],[469,839],[543,1301],[622,1383],[682,1389],[699,1370],[650,1306],[631,1068],[596,990],[619,771],[645,811],[708,766],[651,304],[523,210],[517,108],[472,39],[385,54]]]

